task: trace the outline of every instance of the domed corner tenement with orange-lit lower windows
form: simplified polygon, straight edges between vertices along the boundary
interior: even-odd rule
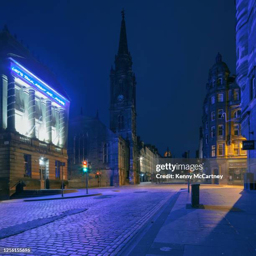
[[[246,172],[245,140],[240,128],[240,88],[230,76],[227,64],[218,53],[209,71],[207,95],[202,116],[202,156],[209,159],[209,174],[224,175],[211,183],[241,184]]]

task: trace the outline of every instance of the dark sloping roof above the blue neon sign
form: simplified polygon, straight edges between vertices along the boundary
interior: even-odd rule
[[[21,65],[36,74],[37,77],[49,84],[50,87],[70,100],[54,73],[46,65],[39,62],[5,27],[0,32],[0,59],[6,59],[8,57],[12,57],[15,61],[18,61]]]

